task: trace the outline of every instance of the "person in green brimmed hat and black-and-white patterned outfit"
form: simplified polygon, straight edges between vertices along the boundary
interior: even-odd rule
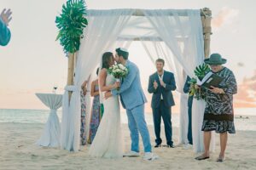
[[[213,73],[224,79],[218,88],[206,89],[207,105],[201,128],[204,131],[205,152],[195,159],[209,158],[211,131],[215,131],[220,137],[220,153],[217,161],[222,162],[228,140],[227,132],[236,133],[233,110],[233,94],[237,93],[236,77],[230,69],[223,66],[226,59],[223,59],[220,54],[212,54],[209,59],[205,59],[205,63],[210,65]]]

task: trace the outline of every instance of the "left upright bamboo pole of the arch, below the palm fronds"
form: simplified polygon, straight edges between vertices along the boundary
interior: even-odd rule
[[[68,54],[68,68],[67,68],[67,86],[73,85],[73,73],[74,73],[74,59],[75,54]],[[70,101],[72,92],[68,92],[68,99]]]

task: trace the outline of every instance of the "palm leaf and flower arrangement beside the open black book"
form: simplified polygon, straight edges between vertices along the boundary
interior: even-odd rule
[[[201,88],[195,88],[195,85],[197,83],[197,80],[202,80],[207,73],[211,71],[208,65],[202,64],[197,67],[195,67],[195,76],[197,78],[191,78],[189,81],[190,88],[189,88],[189,96],[195,96],[195,99],[200,100],[200,99],[205,99],[206,94],[204,91],[201,91]]]

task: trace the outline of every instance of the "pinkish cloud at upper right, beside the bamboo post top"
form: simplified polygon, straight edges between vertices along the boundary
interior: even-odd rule
[[[231,24],[238,14],[239,14],[238,9],[222,8],[216,16],[213,16],[212,28],[219,29],[225,24]]]

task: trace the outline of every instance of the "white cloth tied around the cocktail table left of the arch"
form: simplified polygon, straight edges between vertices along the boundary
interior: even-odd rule
[[[38,98],[49,107],[49,117],[44,127],[44,133],[37,144],[41,146],[60,146],[61,127],[56,111],[62,105],[61,94],[36,94]]]

